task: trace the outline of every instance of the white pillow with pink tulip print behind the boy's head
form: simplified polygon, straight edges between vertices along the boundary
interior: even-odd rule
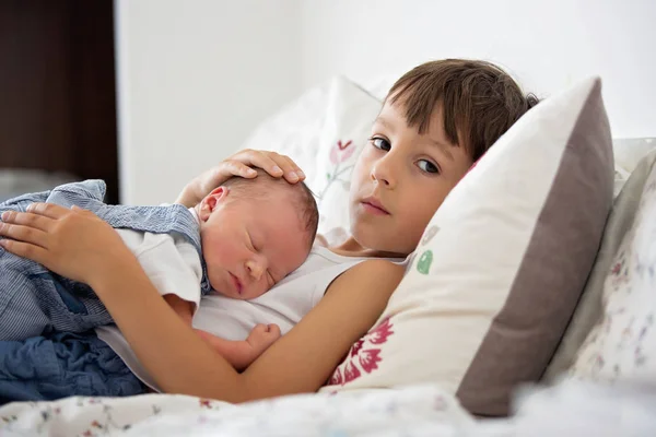
[[[338,244],[349,235],[351,173],[382,102],[343,76],[309,90],[261,123],[245,149],[268,149],[294,160],[317,197],[318,233]]]

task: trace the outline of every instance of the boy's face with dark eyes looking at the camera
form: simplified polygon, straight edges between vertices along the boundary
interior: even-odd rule
[[[444,198],[471,167],[462,146],[446,139],[440,106],[420,134],[405,108],[385,104],[353,170],[351,233],[363,247],[408,255]]]

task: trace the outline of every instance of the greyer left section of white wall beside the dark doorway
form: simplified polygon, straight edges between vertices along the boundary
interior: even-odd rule
[[[300,91],[297,0],[116,0],[121,202],[171,202]]]

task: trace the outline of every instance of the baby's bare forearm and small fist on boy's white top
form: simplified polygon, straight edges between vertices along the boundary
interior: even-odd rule
[[[246,340],[230,341],[200,329],[195,331],[223,356],[236,370],[250,366],[271,344],[280,339],[278,324],[257,324]]]

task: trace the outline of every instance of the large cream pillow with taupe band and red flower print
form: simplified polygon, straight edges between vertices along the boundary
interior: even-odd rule
[[[612,201],[599,79],[536,106],[447,196],[374,328],[323,390],[436,382],[507,414],[542,376],[591,269]]]

